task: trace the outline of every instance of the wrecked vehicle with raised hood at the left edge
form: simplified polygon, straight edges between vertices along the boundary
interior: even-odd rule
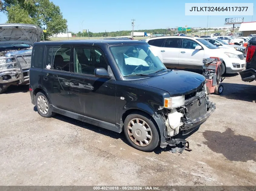
[[[0,24],[0,94],[10,85],[29,84],[32,46],[41,35],[32,24]]]

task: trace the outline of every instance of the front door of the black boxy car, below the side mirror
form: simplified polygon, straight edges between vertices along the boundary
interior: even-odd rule
[[[73,47],[70,90],[73,112],[115,124],[115,79],[97,78],[95,68],[110,70],[99,49]]]

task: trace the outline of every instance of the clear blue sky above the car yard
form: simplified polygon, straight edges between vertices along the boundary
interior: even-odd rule
[[[68,30],[91,32],[131,30],[131,19],[135,19],[135,30],[167,27],[206,27],[207,16],[185,16],[185,3],[207,3],[208,0],[52,0],[58,5],[63,17],[68,20]],[[242,3],[241,0],[210,0],[210,3]],[[254,3],[255,0],[244,1]],[[256,21],[254,7],[253,21]],[[208,27],[224,26],[225,18],[241,16],[209,16]],[[250,22],[252,16],[244,16]],[[7,18],[0,13],[0,23]],[[83,23],[82,23],[83,22]],[[236,25],[235,25],[236,26]]]

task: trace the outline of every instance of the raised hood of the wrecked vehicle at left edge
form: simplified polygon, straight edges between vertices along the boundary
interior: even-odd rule
[[[30,44],[39,42],[42,29],[32,24],[0,24],[0,44]]]

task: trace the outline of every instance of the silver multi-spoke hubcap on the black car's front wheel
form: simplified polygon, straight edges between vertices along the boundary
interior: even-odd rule
[[[127,132],[131,141],[140,147],[149,145],[152,140],[152,131],[143,119],[131,119],[128,123]]]

